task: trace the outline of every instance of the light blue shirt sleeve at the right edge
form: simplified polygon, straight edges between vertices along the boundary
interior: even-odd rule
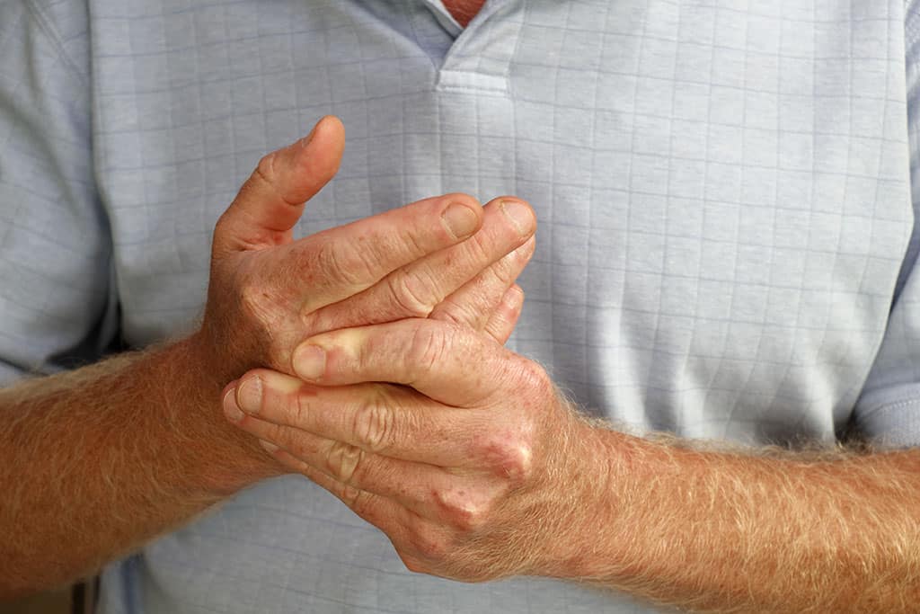
[[[914,232],[888,326],[853,415],[857,434],[880,446],[920,446],[920,0],[905,4],[908,142]]]

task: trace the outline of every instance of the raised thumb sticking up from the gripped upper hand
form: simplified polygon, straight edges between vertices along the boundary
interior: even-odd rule
[[[304,203],[339,171],[344,148],[344,126],[327,115],[305,138],[259,160],[217,222],[213,255],[290,242]]]

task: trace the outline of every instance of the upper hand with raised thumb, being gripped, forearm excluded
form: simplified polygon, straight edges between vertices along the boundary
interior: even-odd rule
[[[263,157],[218,220],[196,337],[224,382],[256,366],[293,374],[294,347],[326,330],[432,317],[501,343],[511,333],[523,302],[514,279],[534,251],[529,205],[446,194],[294,241],[343,148],[341,122],[323,118]]]

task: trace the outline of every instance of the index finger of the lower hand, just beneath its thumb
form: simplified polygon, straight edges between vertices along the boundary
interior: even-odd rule
[[[225,404],[225,409],[233,412],[227,417],[237,423],[258,418],[372,454],[467,467],[477,450],[473,437],[478,424],[472,411],[443,406],[411,388],[386,384],[326,388],[256,369],[239,379],[233,396],[236,404]],[[482,442],[478,444],[481,447]]]

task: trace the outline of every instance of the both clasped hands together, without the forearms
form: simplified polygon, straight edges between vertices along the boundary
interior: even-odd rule
[[[383,530],[412,571],[546,573],[567,556],[586,426],[503,347],[534,214],[449,194],[293,241],[342,131],[324,118],[263,158],[215,228],[199,337],[230,365],[224,415],[278,473]]]

